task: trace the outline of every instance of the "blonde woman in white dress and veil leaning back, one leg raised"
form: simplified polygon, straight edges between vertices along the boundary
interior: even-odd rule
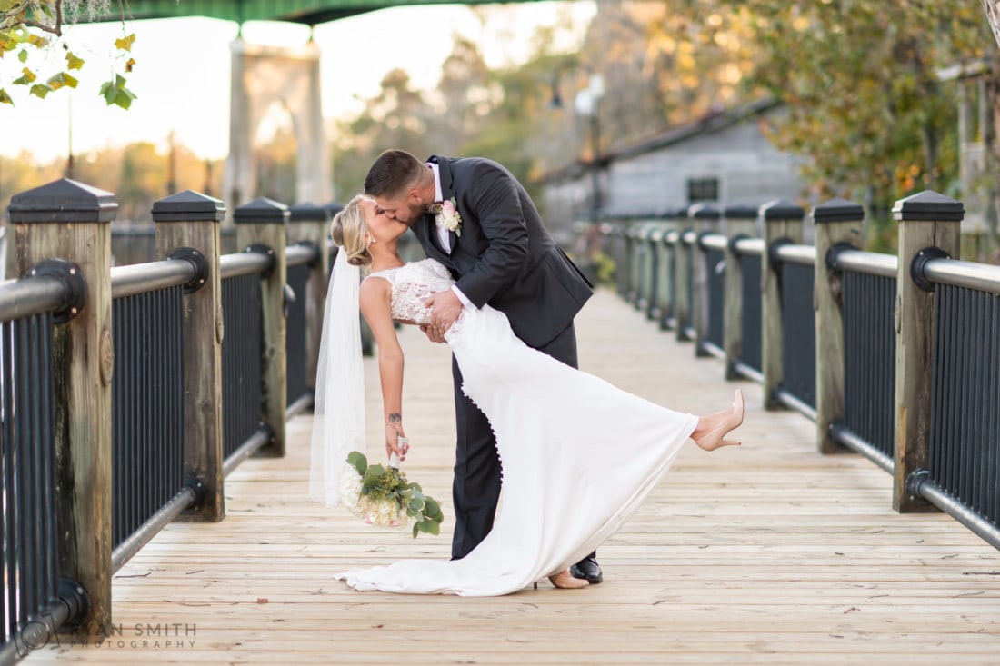
[[[403,354],[393,322],[426,324],[424,301],[450,288],[434,259],[404,263],[406,224],[355,196],[333,219],[340,246],[327,301],[317,376],[310,493],[337,503],[347,454],[364,447],[364,388],[358,307],[378,347],[387,455],[404,458]],[[360,280],[360,267],[371,273]],[[360,287],[359,287],[360,282]],[[544,577],[585,587],[567,567],[615,532],[655,487],[681,445],[738,444],[725,436],[743,422],[743,396],[710,416],[682,414],[622,391],[531,349],[506,316],[465,308],[445,332],[462,371],[462,390],[489,418],[503,467],[504,494],[492,531],[459,560],[410,559],[337,575],[358,590],[494,596]]]

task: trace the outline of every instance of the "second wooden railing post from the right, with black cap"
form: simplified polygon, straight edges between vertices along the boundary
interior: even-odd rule
[[[833,248],[861,246],[865,211],[845,199],[831,199],[812,210],[816,239],[813,307],[816,311],[816,446],[820,453],[842,447],[830,435],[844,418],[844,313],[840,272],[831,265]]]

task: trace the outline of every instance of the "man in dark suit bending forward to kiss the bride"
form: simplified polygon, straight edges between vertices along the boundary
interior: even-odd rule
[[[577,367],[573,317],[593,285],[569,260],[542,224],[528,193],[496,162],[432,156],[422,162],[402,150],[387,150],[372,164],[365,193],[389,217],[405,222],[428,257],[448,267],[451,291],[432,297],[431,325],[421,327],[436,342],[463,307],[489,303],[510,320],[529,346]],[[489,422],[461,391],[452,357],[455,418],[455,532],[452,559],[465,557],[493,527],[501,469]],[[602,579],[596,553],[571,568],[591,583]]]

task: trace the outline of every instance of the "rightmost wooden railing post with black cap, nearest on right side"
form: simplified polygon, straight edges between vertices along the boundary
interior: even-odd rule
[[[911,271],[918,257],[959,258],[965,209],[961,201],[928,190],[900,199],[892,213],[899,222],[892,506],[900,512],[930,511],[933,505],[916,497],[907,482],[928,467],[934,293],[918,285]]]

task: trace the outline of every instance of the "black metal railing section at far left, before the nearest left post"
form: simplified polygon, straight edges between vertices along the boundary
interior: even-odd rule
[[[85,286],[78,274],[75,286],[52,275],[73,270],[68,262],[44,263],[0,284],[0,663],[44,645],[86,605],[82,589],[58,576],[52,400],[53,327],[75,315],[82,296],[73,290]]]

